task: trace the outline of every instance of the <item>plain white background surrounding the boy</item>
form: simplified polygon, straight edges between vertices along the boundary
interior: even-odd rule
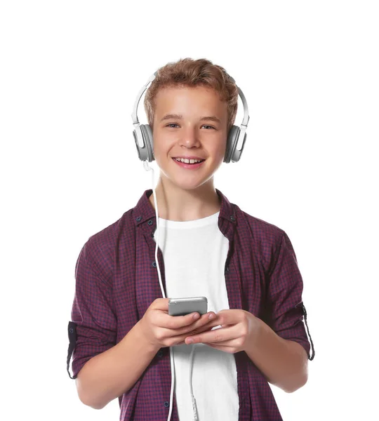
[[[316,356],[297,392],[272,386],[281,415],[378,419],[377,5],[1,2],[2,419],[119,419],[117,399],[86,407],[67,374],[74,265],[152,187],[132,106],[185,57],[222,65],[244,91],[244,154],[215,187],[286,231],[304,280]]]

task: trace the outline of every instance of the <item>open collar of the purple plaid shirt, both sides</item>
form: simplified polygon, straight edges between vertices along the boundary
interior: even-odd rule
[[[227,197],[222,194],[219,189],[215,189],[215,191],[221,199],[220,215],[218,218],[227,220],[232,225],[235,224],[237,222],[237,216],[234,206],[232,206],[232,203],[230,203]],[[133,219],[136,226],[144,224],[146,221],[149,222],[149,220],[154,221],[155,226],[155,210],[152,207],[152,203],[149,202],[149,196],[151,194],[152,189],[145,190],[138,200],[137,205],[133,208]]]

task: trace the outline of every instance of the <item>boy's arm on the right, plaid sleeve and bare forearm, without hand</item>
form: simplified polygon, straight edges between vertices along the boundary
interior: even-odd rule
[[[305,385],[308,377],[310,342],[302,322],[302,289],[295,251],[281,230],[267,269],[265,312],[255,318],[257,334],[246,354],[268,382],[288,393]]]

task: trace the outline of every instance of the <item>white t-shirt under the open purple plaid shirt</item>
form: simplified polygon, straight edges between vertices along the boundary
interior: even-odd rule
[[[167,298],[205,296],[208,312],[215,313],[230,308],[224,276],[229,240],[218,228],[219,214],[183,222],[159,218],[159,248],[164,256]],[[157,235],[156,230],[155,241]],[[180,421],[192,421],[194,417],[189,387],[192,347],[196,348],[192,391],[199,421],[237,421],[239,396],[234,354],[202,343],[172,347]]]

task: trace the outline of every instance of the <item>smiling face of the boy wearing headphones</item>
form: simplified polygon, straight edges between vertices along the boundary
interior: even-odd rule
[[[196,189],[212,178],[224,159],[226,102],[222,102],[212,88],[170,87],[158,91],[155,105],[154,157],[161,169],[162,181],[172,182],[182,189]],[[178,163],[174,160],[178,157],[196,157],[204,161],[200,164]]]

